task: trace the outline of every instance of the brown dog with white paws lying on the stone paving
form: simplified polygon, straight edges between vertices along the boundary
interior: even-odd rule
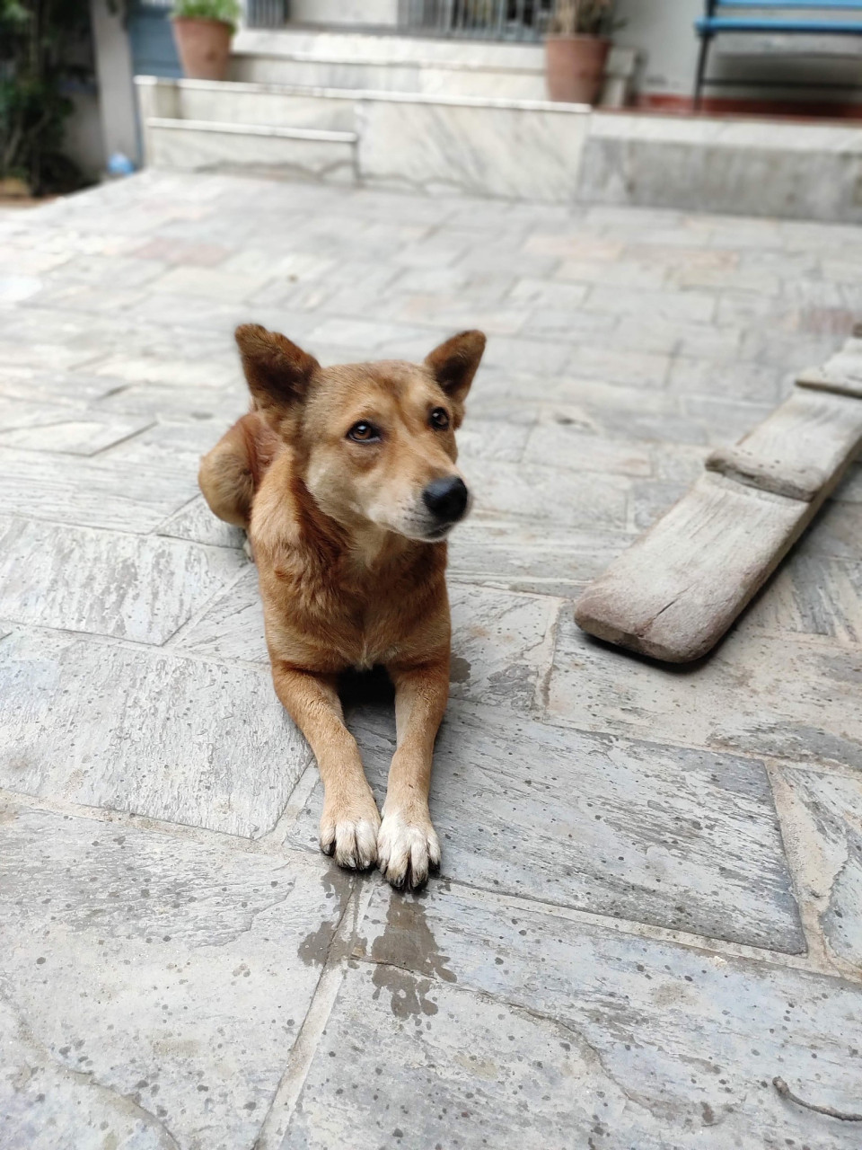
[[[276,693],[323,779],[322,850],[418,887],[440,861],[428,792],[449,685],[444,540],[469,503],[454,432],[485,337],[464,331],[422,365],[330,368],[257,324],[237,343],[252,412],[203,457],[201,490],[248,530]],[[339,672],[376,664],[398,731],[383,821],[337,693]]]

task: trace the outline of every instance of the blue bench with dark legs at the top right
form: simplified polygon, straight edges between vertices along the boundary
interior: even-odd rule
[[[716,15],[725,10],[732,15]],[[793,16],[793,12],[807,15]],[[780,13],[770,16],[769,13]],[[817,20],[816,12],[845,13],[832,20]],[[855,18],[854,18],[855,17]],[[708,80],[707,59],[709,47],[722,32],[800,32],[829,36],[862,36],[862,2],[859,0],[706,0],[706,14],[695,21],[694,30],[700,37],[698,71],[694,78],[694,108],[700,107],[703,87],[707,84],[726,83]]]

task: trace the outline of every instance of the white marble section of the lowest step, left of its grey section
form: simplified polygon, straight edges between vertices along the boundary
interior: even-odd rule
[[[136,77],[147,162],[561,202],[590,109],[272,84]]]

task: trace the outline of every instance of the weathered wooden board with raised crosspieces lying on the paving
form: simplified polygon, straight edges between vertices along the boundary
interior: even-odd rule
[[[579,627],[668,662],[699,659],[717,643],[862,444],[855,345],[862,340],[807,373],[736,446],[713,452],[707,474],[586,589],[575,608]]]

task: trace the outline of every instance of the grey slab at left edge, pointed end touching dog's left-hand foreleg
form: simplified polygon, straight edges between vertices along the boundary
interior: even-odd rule
[[[22,631],[0,681],[9,790],[257,837],[309,762],[268,668]]]

